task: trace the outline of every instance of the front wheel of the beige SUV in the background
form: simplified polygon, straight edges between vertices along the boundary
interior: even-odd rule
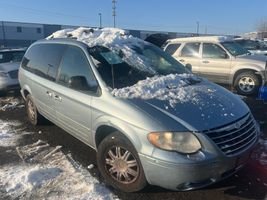
[[[257,94],[260,86],[259,77],[251,71],[240,73],[234,82],[234,87],[239,94]]]

